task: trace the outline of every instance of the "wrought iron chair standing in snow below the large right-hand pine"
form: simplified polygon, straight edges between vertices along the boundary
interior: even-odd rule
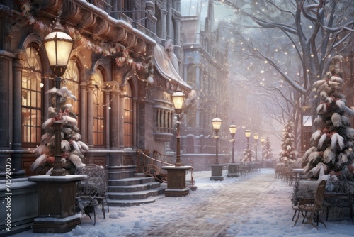
[[[304,219],[302,220],[302,224],[311,224],[315,228],[318,229],[319,222],[327,228],[324,221],[321,220],[319,216],[319,211],[322,209],[322,203],[324,202],[324,192],[326,191],[326,180],[322,180],[319,183],[319,186],[316,189],[316,194],[314,199],[300,199],[297,203],[297,206],[292,206],[292,209],[295,211],[292,219],[294,220],[295,215],[297,214],[297,219],[295,220],[294,226],[297,224],[299,220],[299,215],[302,213]],[[314,218],[316,225],[314,224]]]

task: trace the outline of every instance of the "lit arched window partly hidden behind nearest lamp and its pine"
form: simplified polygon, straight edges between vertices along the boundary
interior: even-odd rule
[[[67,89],[74,94],[76,99],[79,99],[79,68],[76,65],[76,60],[69,60],[67,70],[65,71],[63,78],[64,81],[62,81],[62,86],[67,87]],[[72,104],[73,112],[76,116],[78,116],[79,101],[74,101],[74,99],[67,98],[67,103]]]

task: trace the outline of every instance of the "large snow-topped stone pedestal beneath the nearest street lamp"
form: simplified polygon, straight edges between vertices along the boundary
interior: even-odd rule
[[[75,214],[76,182],[86,175],[28,177],[38,184],[38,218],[34,221],[33,232],[66,233],[80,224]]]

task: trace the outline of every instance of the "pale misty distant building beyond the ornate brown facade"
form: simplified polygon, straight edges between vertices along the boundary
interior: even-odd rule
[[[218,37],[213,1],[181,0],[181,15],[183,79],[196,96],[183,119],[183,160],[188,163],[192,159],[193,165],[202,169],[215,162],[215,132],[211,122],[216,116],[222,119],[219,153],[228,153],[231,121],[227,112],[227,45]],[[222,162],[227,159],[224,155]]]

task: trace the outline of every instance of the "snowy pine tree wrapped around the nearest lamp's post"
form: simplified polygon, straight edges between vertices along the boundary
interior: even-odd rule
[[[62,121],[62,166],[67,170],[67,174],[74,174],[76,167],[84,165],[81,161],[84,155],[82,150],[89,150],[89,146],[81,141],[79,128],[77,127],[77,117],[73,113],[72,104],[67,104],[67,98],[76,100],[76,97],[67,87],[61,89],[52,88],[49,90],[52,94],[52,106],[48,108],[49,118],[42,124],[44,134],[40,145],[33,150],[38,158],[30,166],[30,170],[37,175],[50,174],[55,162],[55,128],[54,121]],[[60,96],[59,116],[56,114],[55,101],[56,96]]]

